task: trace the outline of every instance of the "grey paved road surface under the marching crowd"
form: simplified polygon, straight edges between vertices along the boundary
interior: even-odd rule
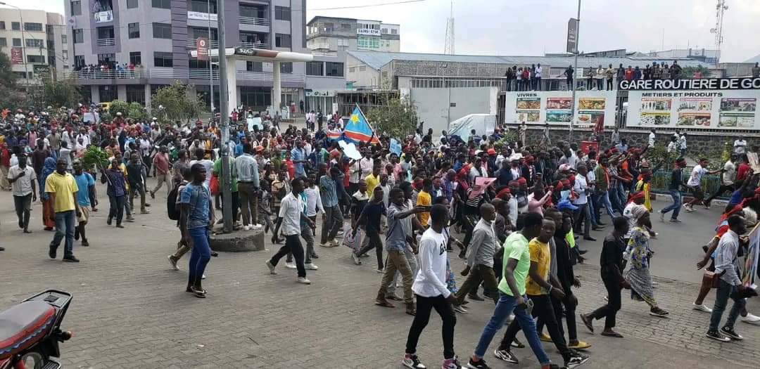
[[[126,229],[106,226],[102,207],[88,227],[92,246],[77,243],[75,253],[82,262],[72,264],[47,257],[52,232],[42,230],[39,204],[33,208],[34,233],[23,235],[14,226],[11,194],[0,193],[0,242],[7,248],[0,253],[0,308],[43,289],[72,292],[65,328],[74,330],[74,338],[62,344],[66,367],[400,367],[411,317],[400,308],[373,304],[380,280],[372,268],[374,256],[356,267],[346,249],[318,248],[320,269],[309,273],[313,284],[305,286],[297,285],[295,273],[283,267],[279,275],[268,275],[264,260],[274,252],[271,245],[268,251],[223,253],[207,270],[208,298],[193,298],[184,292],[187,261],[179,272],[169,270],[166,261],[178,232],[166,218],[164,199],[161,194],[153,200],[153,213],[138,215],[137,222],[125,223]],[[584,367],[742,367],[749,365],[740,357],[760,355],[760,327],[739,323],[736,329],[746,340],[720,344],[704,337],[708,315],[686,308],[700,276],[692,264],[716,217],[715,210],[709,215],[700,210],[686,214],[682,225],[661,225],[653,267],[666,277],[659,279],[656,292],[671,317],[651,317],[644,304],[624,298],[618,330],[625,339],[591,335],[579,327],[581,339],[593,344]],[[595,234],[601,239],[604,232]],[[584,283],[577,291],[581,312],[597,308],[604,295],[594,266],[600,242],[584,247],[590,263],[577,271]],[[461,260],[450,256],[454,270],[461,270]],[[492,312],[487,302],[470,306],[470,314],[458,316],[456,328],[455,348],[463,358]],[[561,361],[555,349],[545,347],[553,360]],[[429,367],[441,358],[435,315],[419,353]],[[493,367],[537,367],[530,350],[516,353],[521,364],[490,356],[489,362]]]

